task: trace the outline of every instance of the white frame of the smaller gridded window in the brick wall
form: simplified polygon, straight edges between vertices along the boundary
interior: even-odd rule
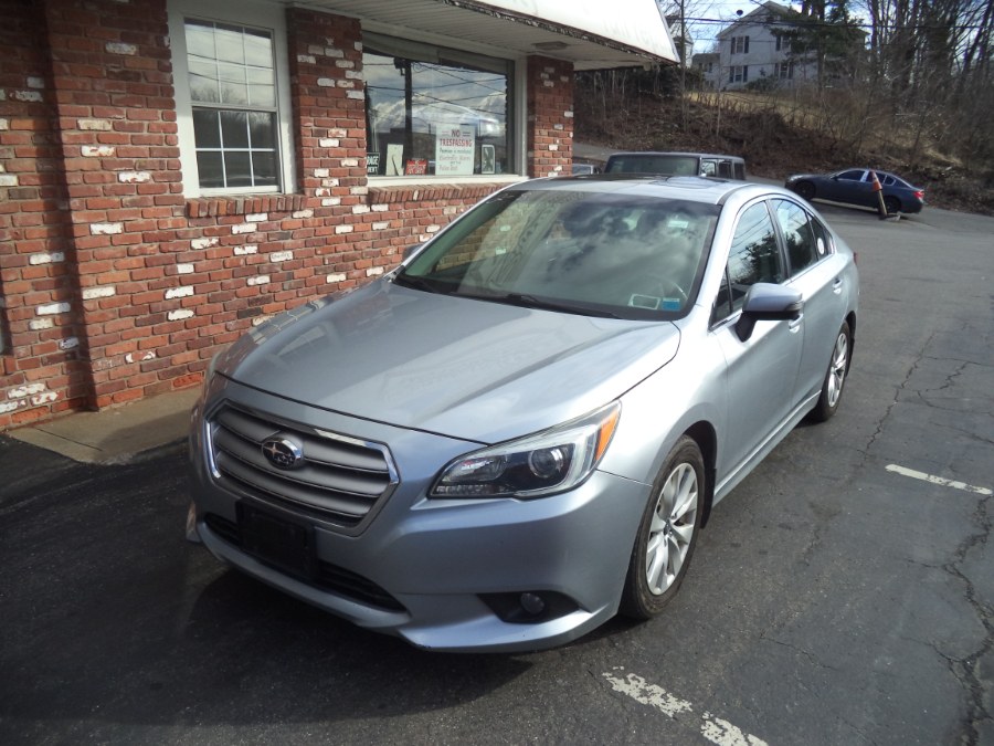
[[[179,138],[180,166],[186,197],[225,195],[274,195],[296,191],[293,148],[293,109],[289,85],[289,53],[286,40],[286,13],[279,6],[242,0],[237,6],[205,8],[203,0],[169,0],[169,42],[172,50],[172,80],[176,92],[176,124]],[[186,19],[215,21],[268,31],[273,38],[276,65],[276,164],[279,183],[276,187],[239,187],[205,189],[200,186],[197,167],[197,141],[193,136],[193,102],[187,69]]]

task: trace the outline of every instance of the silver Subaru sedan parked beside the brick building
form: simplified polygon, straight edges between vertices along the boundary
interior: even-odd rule
[[[858,294],[853,252],[778,187],[504,189],[214,359],[188,534],[421,648],[648,619],[713,505],[835,413]]]

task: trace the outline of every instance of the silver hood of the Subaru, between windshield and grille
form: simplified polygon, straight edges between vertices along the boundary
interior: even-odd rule
[[[274,317],[215,369],[327,410],[494,443],[616,399],[678,344],[669,322],[521,308],[381,280]]]

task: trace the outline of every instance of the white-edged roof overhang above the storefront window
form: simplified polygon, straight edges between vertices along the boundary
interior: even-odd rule
[[[541,54],[577,70],[676,62],[655,0],[307,0],[293,4],[358,18],[380,33],[412,31],[440,45],[466,42]]]

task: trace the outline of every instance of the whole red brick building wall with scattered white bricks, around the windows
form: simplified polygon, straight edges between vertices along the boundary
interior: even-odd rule
[[[359,23],[287,11],[293,193],[182,195],[165,0],[0,0],[0,430],[195,386],[254,324],[394,266],[497,185],[366,178]],[[529,64],[528,168],[569,168]]]

